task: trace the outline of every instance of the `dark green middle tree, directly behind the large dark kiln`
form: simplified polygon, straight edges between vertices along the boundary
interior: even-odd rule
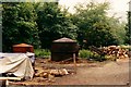
[[[68,18],[68,11],[61,11],[58,2],[37,3],[37,24],[43,48],[50,48],[52,40],[69,37],[75,38],[75,26]]]

